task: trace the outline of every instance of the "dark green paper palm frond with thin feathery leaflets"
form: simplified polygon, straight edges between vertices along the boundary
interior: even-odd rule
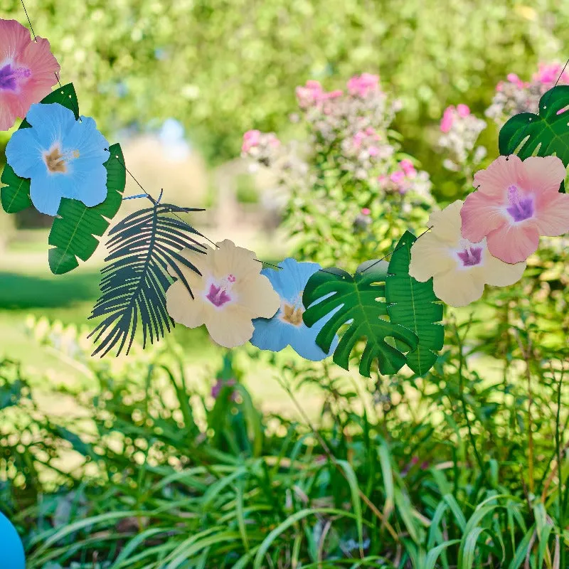
[[[129,343],[126,353],[129,353],[139,319],[142,324],[143,348],[148,335],[153,344],[154,337],[156,340],[164,337],[164,328],[170,331],[170,324],[174,327],[174,320],[166,312],[165,293],[172,282],[167,267],[172,267],[193,298],[186,277],[178,265],[186,265],[200,276],[201,272],[179,252],[188,248],[205,255],[206,250],[188,235],[193,233],[204,237],[201,233],[169,214],[191,211],[205,210],[157,202],[151,208],[132,213],[110,230],[109,235],[112,237],[107,243],[110,255],[105,259],[110,265],[101,271],[102,294],[89,317],[105,317],[89,337],[98,332],[94,340],[97,342],[102,334],[106,333],[106,336],[92,353],[93,356],[100,351],[101,357],[105,356],[120,342],[118,356],[127,339]]]

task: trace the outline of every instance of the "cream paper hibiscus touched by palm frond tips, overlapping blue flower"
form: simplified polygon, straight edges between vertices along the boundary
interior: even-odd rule
[[[225,348],[235,348],[250,340],[252,319],[270,318],[280,307],[280,297],[270,281],[261,275],[262,265],[255,254],[225,239],[219,249],[204,245],[207,252],[184,249],[180,255],[194,265],[200,275],[178,265],[190,285],[177,280],[166,291],[168,314],[188,328],[206,324],[211,339]],[[169,267],[170,274],[176,276]]]

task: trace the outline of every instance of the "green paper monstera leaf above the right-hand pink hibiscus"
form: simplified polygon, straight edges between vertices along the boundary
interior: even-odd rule
[[[565,168],[569,165],[569,85],[559,85],[539,100],[539,115],[522,112],[501,127],[500,154],[557,156]],[[565,192],[564,184],[560,191]]]

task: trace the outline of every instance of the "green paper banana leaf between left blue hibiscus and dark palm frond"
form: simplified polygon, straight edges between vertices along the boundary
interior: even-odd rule
[[[119,144],[113,144],[109,151],[110,158],[105,162],[108,190],[105,201],[87,208],[78,200],[61,199],[48,239],[48,243],[55,246],[49,250],[49,266],[54,275],[63,275],[78,267],[78,258],[89,259],[99,245],[95,235],[102,236],[119,211],[127,183],[124,157]]]

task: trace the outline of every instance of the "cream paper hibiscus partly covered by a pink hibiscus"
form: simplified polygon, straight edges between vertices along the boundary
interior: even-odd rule
[[[521,279],[525,262],[510,265],[492,256],[486,238],[472,243],[460,233],[460,200],[431,213],[429,233],[411,248],[409,275],[425,282],[432,277],[438,298],[452,307],[464,307],[482,297],[484,285],[507,287]]]

